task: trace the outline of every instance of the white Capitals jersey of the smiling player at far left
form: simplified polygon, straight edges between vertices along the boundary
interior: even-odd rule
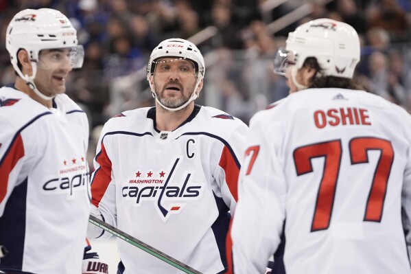
[[[0,270],[81,273],[90,211],[89,124],[67,95],[54,108],[0,89]],[[7,272],[7,271],[6,271]]]

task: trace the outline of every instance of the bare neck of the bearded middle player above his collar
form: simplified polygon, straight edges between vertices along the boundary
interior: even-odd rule
[[[156,127],[158,130],[172,131],[191,115],[194,109],[194,102],[180,111],[167,111],[156,105]]]

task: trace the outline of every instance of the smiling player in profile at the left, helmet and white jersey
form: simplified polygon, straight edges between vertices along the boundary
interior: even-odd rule
[[[89,124],[63,94],[82,47],[67,17],[43,8],[14,16],[6,48],[17,77],[0,89],[0,271],[82,273]]]

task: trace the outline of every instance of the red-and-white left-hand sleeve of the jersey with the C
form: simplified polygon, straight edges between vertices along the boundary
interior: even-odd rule
[[[97,154],[94,158],[95,171],[91,176],[91,215],[116,226],[117,214],[115,205],[115,185],[113,182],[112,163],[107,150],[110,148],[109,138],[106,138],[105,125],[97,144]],[[89,238],[110,238],[110,233],[89,224]]]

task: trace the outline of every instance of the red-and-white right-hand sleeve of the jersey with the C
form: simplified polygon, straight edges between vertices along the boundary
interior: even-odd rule
[[[233,130],[227,141],[219,148],[219,161],[213,174],[220,187],[222,199],[231,212],[234,212],[237,203],[237,181],[247,133],[248,126],[243,123]]]

